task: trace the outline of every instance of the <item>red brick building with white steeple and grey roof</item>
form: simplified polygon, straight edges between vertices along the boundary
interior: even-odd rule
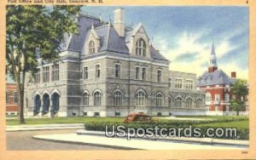
[[[198,77],[197,87],[206,93],[207,115],[227,115],[236,114],[230,109],[232,98],[231,88],[236,81],[236,72],[233,71],[230,77],[222,70],[218,69],[214,44],[209,57],[208,71]],[[247,107],[241,111],[247,114]]]

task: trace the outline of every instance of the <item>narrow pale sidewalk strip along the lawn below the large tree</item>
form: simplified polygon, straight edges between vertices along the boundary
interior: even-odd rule
[[[61,124],[38,124],[38,125],[18,125],[7,126],[6,131],[32,131],[50,129],[84,129],[84,123],[61,123]]]

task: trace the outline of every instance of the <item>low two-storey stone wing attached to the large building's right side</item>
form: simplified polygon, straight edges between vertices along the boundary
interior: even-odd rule
[[[196,89],[196,75],[169,71],[169,106],[173,115],[205,115],[205,93]]]

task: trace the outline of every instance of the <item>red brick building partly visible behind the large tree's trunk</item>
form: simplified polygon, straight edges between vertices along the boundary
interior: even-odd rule
[[[17,85],[13,78],[7,74],[6,75],[6,114],[7,115],[17,115],[19,112],[19,96],[17,92]]]

